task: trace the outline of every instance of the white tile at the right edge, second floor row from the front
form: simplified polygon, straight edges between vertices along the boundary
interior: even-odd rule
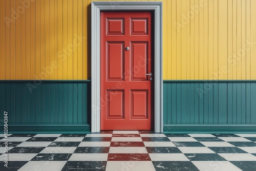
[[[244,153],[220,153],[221,157],[228,161],[256,161],[256,156]]]

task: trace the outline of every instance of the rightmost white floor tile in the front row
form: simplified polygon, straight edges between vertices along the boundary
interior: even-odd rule
[[[228,161],[192,161],[201,171],[240,171],[241,169]]]

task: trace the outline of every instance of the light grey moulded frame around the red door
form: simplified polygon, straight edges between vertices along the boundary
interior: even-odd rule
[[[154,131],[163,132],[163,77],[162,77],[162,2],[92,2],[91,132],[100,131],[100,11],[153,11],[154,12]]]

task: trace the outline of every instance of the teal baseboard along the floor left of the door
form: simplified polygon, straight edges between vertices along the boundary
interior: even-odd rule
[[[0,125],[1,127],[3,125]],[[91,133],[89,124],[82,125],[8,125],[8,134],[87,134]]]

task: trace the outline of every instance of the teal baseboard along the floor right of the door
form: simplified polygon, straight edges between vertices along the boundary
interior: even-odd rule
[[[189,134],[189,133],[211,133],[211,134],[232,134],[232,133],[256,133],[256,125],[163,125],[165,134]]]

